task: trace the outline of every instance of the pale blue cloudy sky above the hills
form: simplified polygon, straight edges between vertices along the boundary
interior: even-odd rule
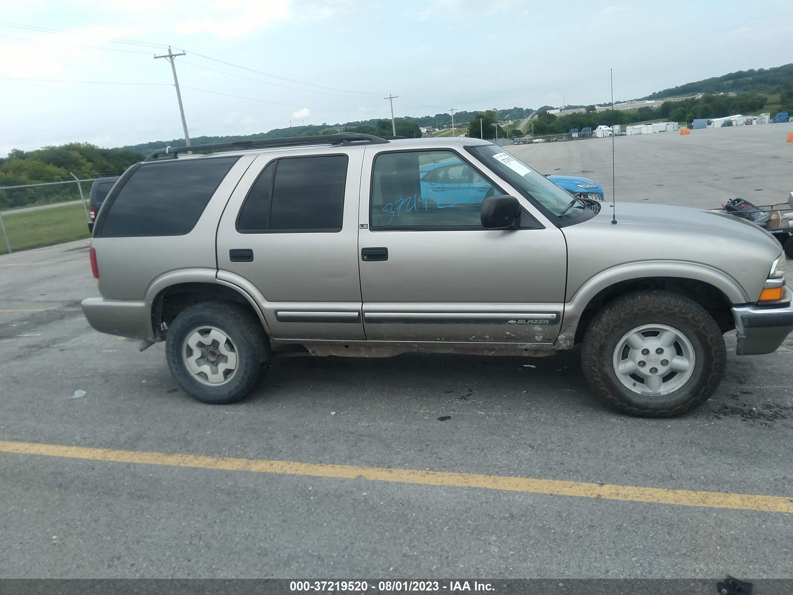
[[[0,0],[0,156],[182,137],[169,44],[200,136],[389,117],[388,94],[397,117],[602,103],[610,68],[638,98],[790,63],[791,37],[790,0]]]

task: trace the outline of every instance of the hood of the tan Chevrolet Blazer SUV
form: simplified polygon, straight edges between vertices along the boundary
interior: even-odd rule
[[[693,209],[688,206],[646,205],[634,202],[617,202],[617,227],[620,223],[638,225],[657,232],[677,232],[687,234],[728,233],[734,236],[752,237],[770,244],[776,251],[782,251],[779,242],[770,233],[752,222],[728,215],[714,213],[707,209]],[[603,205],[600,213],[581,225],[611,225],[611,204]]]

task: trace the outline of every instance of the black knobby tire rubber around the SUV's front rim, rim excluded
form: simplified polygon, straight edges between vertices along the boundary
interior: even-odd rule
[[[695,352],[691,378],[659,397],[644,396],[619,381],[612,363],[618,341],[642,324],[666,324],[682,332]],[[724,336],[713,317],[695,301],[668,291],[636,291],[603,306],[581,344],[584,376],[597,397],[620,413],[674,417],[707,401],[726,367]]]

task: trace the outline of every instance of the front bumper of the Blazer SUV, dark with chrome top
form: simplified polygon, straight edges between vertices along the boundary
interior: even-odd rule
[[[791,295],[785,288],[785,297]],[[737,355],[773,353],[793,331],[793,306],[738,305],[733,308]]]

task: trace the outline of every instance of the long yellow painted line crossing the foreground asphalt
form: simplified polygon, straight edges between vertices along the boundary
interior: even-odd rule
[[[756,496],[747,493],[695,492],[688,489],[642,488],[612,486],[598,483],[560,482],[553,479],[515,478],[500,475],[419,471],[411,469],[383,469],[324,463],[297,463],[266,459],[228,459],[199,455],[168,455],[163,452],[116,451],[107,448],[84,448],[25,442],[0,442],[0,452],[21,455],[46,455],[65,459],[87,459],[112,463],[140,463],[247,471],[281,475],[308,475],[317,478],[366,479],[373,482],[396,482],[423,486],[450,486],[481,489],[500,489],[509,492],[547,493],[556,496],[577,496],[652,502],[682,506],[705,506],[715,509],[763,510],[793,512],[793,498]]]

